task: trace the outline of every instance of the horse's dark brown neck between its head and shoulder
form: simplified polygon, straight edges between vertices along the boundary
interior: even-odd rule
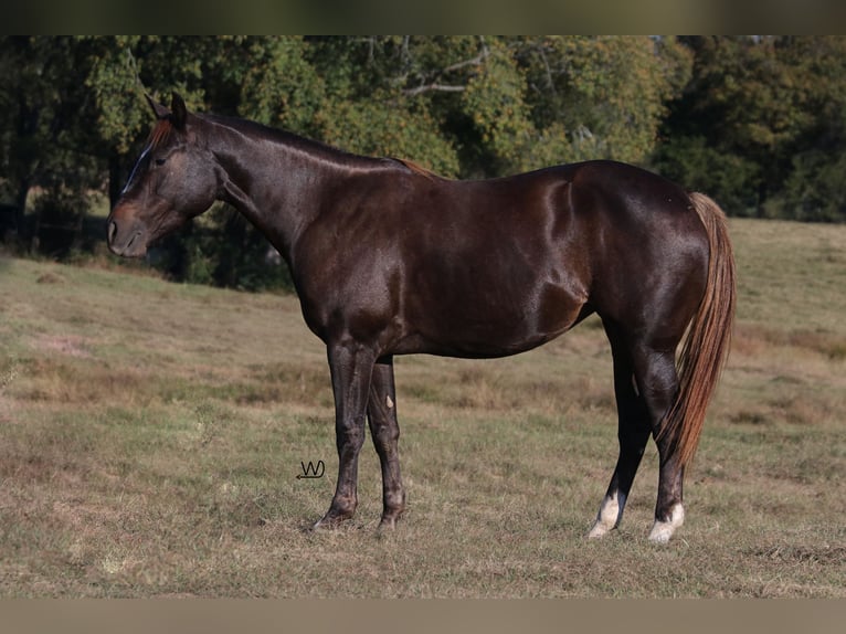
[[[208,142],[223,171],[219,198],[245,215],[289,264],[294,244],[327,193],[373,162],[258,124],[203,119],[214,126]]]

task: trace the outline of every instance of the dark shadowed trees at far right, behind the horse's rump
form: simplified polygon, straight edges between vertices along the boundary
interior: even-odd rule
[[[708,191],[733,214],[842,214],[840,170],[834,166],[846,149],[846,41],[684,42],[695,55],[692,78],[670,104],[655,166]]]

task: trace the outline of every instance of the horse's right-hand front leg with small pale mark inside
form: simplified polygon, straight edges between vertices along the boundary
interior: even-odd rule
[[[394,528],[405,510],[405,490],[400,475],[396,421],[396,391],[393,381],[393,359],[380,359],[373,368],[368,402],[368,422],[376,452],[382,467],[382,521],[380,528]]]

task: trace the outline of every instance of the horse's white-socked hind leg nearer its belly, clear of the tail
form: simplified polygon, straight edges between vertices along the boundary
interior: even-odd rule
[[[625,338],[607,321],[605,323],[605,331],[611,341],[614,357],[614,394],[617,402],[620,457],[596,515],[596,520],[588,533],[590,538],[603,537],[620,526],[628,492],[632,489],[652,430],[648,410],[637,390],[632,357],[625,345]]]

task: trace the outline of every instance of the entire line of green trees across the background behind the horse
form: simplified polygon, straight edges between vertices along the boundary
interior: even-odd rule
[[[0,76],[0,229],[50,254],[97,249],[92,210],[115,201],[149,131],[144,94],[171,89],[453,178],[612,158],[732,215],[846,220],[840,36],[2,36]],[[266,256],[220,208],[160,266],[284,284]]]

